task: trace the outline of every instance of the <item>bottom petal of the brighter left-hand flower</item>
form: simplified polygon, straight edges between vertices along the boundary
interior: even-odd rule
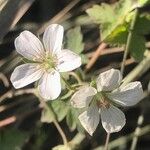
[[[60,74],[55,70],[46,72],[39,81],[38,89],[44,99],[56,99],[61,92]]]

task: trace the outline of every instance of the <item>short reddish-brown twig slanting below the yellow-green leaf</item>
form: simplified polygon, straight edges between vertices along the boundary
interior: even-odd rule
[[[86,71],[89,71],[91,67],[95,64],[96,60],[100,56],[101,52],[106,48],[107,44],[106,43],[101,43],[97,50],[95,51],[94,55],[92,56],[91,60],[89,63],[86,65]]]

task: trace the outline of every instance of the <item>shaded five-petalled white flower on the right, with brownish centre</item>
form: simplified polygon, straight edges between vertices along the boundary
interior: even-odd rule
[[[84,86],[72,96],[71,104],[74,107],[87,108],[79,115],[79,120],[90,135],[96,130],[100,118],[106,132],[120,131],[126,122],[125,115],[112,103],[132,106],[142,99],[143,89],[140,82],[131,82],[119,87],[121,80],[120,71],[110,69],[97,78],[97,89]]]

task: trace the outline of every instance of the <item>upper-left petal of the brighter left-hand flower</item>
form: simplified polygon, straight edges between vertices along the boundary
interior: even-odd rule
[[[23,31],[15,39],[15,47],[19,54],[27,59],[41,59],[44,55],[44,48],[40,40],[31,32]]]

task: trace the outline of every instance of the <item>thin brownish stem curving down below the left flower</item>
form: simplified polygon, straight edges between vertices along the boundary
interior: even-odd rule
[[[54,123],[55,127],[57,128],[59,134],[61,135],[64,145],[66,145],[68,143],[66,135],[65,135],[64,131],[62,130],[62,128],[60,127],[59,123],[57,122],[53,110],[48,106],[48,104],[41,97],[38,97],[38,98],[39,98],[41,104],[43,105],[43,107],[45,109],[47,109],[50,114],[53,115],[53,123]]]

